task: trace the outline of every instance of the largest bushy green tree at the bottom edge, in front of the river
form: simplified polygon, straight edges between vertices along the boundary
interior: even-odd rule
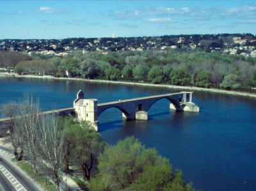
[[[99,174],[90,183],[91,190],[161,191],[172,185],[183,188],[179,190],[193,190],[187,189],[189,185],[182,176],[172,172],[168,159],[159,156],[156,149],[146,149],[134,137],[127,137],[116,146],[107,146],[99,157],[98,168]]]

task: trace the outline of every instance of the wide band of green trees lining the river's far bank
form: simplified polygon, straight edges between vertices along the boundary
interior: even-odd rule
[[[9,54],[9,53],[8,53]],[[13,53],[15,54],[15,53]],[[18,54],[18,53],[16,53]],[[2,53],[2,57],[7,53]],[[0,54],[1,56],[1,54]],[[15,56],[9,56],[15,57]],[[1,58],[0,58],[1,59]],[[31,54],[7,59],[15,71],[83,79],[143,80],[202,88],[250,89],[256,86],[256,58],[218,52],[76,51],[63,58]],[[6,63],[6,62],[5,62]],[[6,66],[4,64],[3,66]]]

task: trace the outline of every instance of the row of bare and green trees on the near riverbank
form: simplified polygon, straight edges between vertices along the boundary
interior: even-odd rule
[[[35,176],[46,174],[56,190],[70,165],[80,169],[87,190],[195,190],[156,149],[145,148],[135,137],[109,145],[88,121],[40,114],[39,101],[32,96],[4,103],[1,113],[10,118],[16,159],[28,160]]]

